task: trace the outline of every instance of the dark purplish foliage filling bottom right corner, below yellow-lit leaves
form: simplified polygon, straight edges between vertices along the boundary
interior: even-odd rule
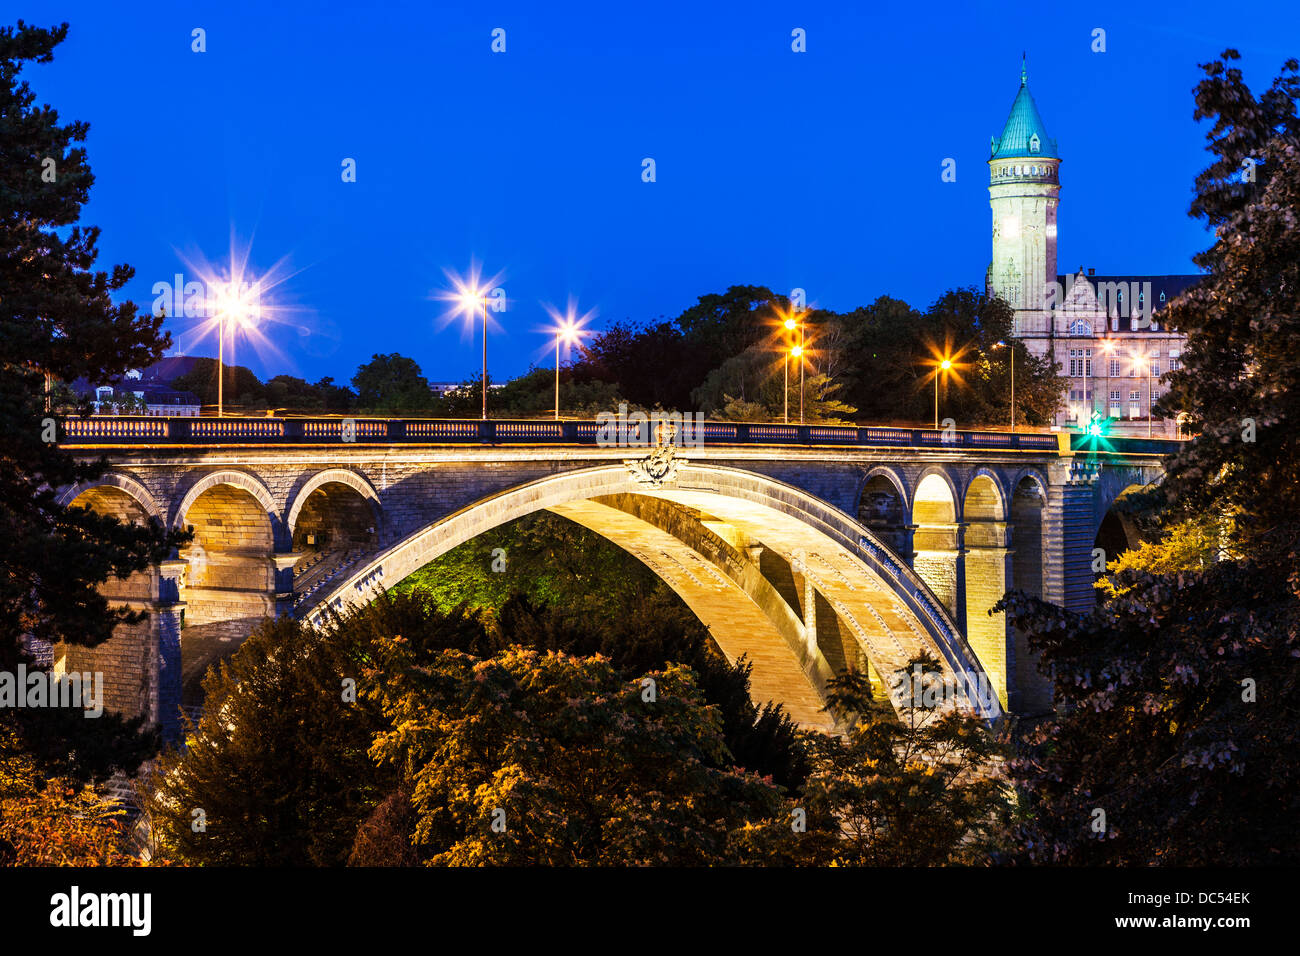
[[[1011,766],[1027,861],[1300,861],[1300,619],[1277,575],[1234,561],[1131,570],[1088,614],[1024,594],[1002,606],[1054,675],[1058,709]]]

